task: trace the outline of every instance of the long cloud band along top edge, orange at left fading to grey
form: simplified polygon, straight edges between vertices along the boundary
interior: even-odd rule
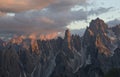
[[[0,11],[2,12],[22,12],[32,9],[42,9],[50,5],[51,9],[66,8],[76,3],[83,3],[86,0],[1,0]]]

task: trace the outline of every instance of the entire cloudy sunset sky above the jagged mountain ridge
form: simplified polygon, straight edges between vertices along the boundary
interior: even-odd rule
[[[0,32],[46,33],[86,28],[92,19],[120,22],[120,0],[0,0]]]

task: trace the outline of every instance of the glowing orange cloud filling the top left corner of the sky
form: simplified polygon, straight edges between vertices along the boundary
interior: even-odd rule
[[[21,12],[31,9],[41,9],[54,0],[0,0],[0,10],[7,12]]]

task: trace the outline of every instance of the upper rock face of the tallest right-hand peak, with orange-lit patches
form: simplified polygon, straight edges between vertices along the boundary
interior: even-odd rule
[[[98,48],[99,53],[112,55],[117,48],[117,39],[113,30],[108,28],[103,20],[97,18],[92,20],[84,35],[86,44]],[[87,39],[88,38],[88,39]],[[91,39],[91,41],[89,40]]]

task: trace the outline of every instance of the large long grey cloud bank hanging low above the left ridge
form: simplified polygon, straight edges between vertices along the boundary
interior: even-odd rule
[[[85,19],[86,14],[83,10],[80,12],[66,11],[65,14],[49,10],[34,10],[17,13],[15,16],[1,17],[0,31],[25,33],[62,31],[70,22]]]

